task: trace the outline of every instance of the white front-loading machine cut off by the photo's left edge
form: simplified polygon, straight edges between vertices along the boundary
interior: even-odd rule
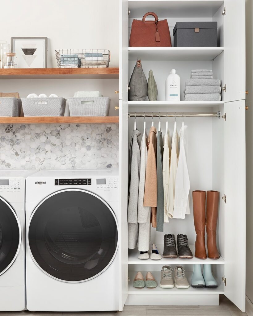
[[[0,173],[0,311],[26,307],[25,179],[33,172]]]

